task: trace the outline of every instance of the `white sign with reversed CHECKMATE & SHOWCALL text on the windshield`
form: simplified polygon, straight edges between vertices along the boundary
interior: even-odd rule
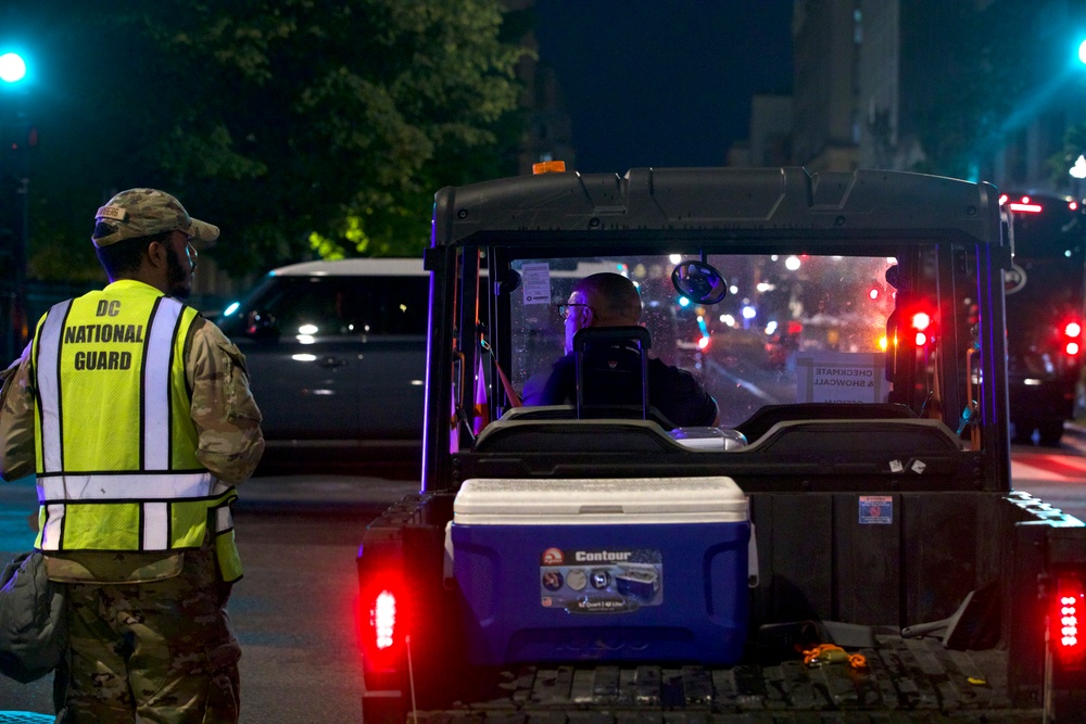
[[[885,402],[888,392],[885,359],[882,352],[796,355],[796,402]]]

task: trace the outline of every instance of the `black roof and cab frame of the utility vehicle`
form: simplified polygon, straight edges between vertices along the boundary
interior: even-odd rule
[[[484,354],[478,344],[480,331],[497,355],[483,363],[491,372],[495,364],[508,369],[509,304],[495,290],[514,258],[665,250],[703,257],[813,251],[898,256],[925,247],[934,249],[939,296],[975,294],[980,309],[975,329],[967,330],[957,315],[946,312],[951,305],[939,305],[944,338],[972,334],[977,340],[984,380],[975,412],[983,444],[955,472],[956,485],[1009,491],[1002,287],[1009,250],[1001,236],[998,194],[990,185],[900,172],[811,176],[803,168],[724,168],[633,169],[621,178],[560,173],[442,189],[435,195],[432,245],[425,256],[431,290],[424,490],[456,490],[465,475],[480,469],[476,458],[485,457],[449,452],[453,370],[464,376],[477,369],[478,356]],[[955,288],[963,278],[959,267],[967,263],[976,267],[975,290]],[[480,305],[480,297],[488,303]],[[484,318],[478,316],[480,308]],[[971,374],[963,365],[959,355],[942,355],[940,374],[948,380]],[[954,429],[970,401],[962,398],[958,385],[945,389],[944,421]],[[506,407],[500,385],[493,391],[492,406]],[[619,460],[606,456],[597,462],[601,471],[621,468]],[[706,469],[715,465],[684,460],[687,463]],[[530,460],[521,465],[531,467]],[[555,469],[553,460],[541,459],[539,465],[541,471]]]

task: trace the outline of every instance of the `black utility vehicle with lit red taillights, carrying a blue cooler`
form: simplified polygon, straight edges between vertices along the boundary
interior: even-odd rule
[[[358,556],[365,720],[1083,721],[1086,528],[1010,479],[1010,262],[993,186],[908,173],[439,191],[421,486]],[[572,404],[519,405],[579,264],[643,328],[582,330]],[[719,427],[660,416],[646,356]]]

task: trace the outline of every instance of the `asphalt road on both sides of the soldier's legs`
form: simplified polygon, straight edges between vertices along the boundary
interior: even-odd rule
[[[241,640],[241,721],[361,722],[355,555],[363,528],[417,490],[412,481],[358,475],[254,478],[241,488],[235,524],[245,577],[229,610]],[[33,479],[0,484],[0,560],[34,544]],[[0,676],[4,712],[52,712],[52,677]]]

